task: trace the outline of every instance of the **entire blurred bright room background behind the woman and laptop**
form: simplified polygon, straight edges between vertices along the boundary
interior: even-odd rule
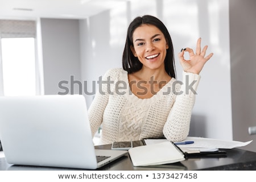
[[[256,126],[254,0],[0,0],[0,96],[83,94],[122,67],[127,27],[150,14],[166,24],[177,80],[181,48],[208,45],[189,135],[246,142]],[[256,152],[253,141],[246,150]]]

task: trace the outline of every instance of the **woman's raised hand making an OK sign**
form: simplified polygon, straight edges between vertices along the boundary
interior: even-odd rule
[[[191,48],[181,49],[181,52],[179,53],[179,60],[183,70],[185,72],[196,73],[199,75],[204,64],[213,56],[213,53],[210,53],[205,57],[207,48],[208,46],[205,46],[203,51],[201,51],[201,38],[199,38],[196,43],[196,54]],[[184,52],[188,52],[190,60],[184,59]]]

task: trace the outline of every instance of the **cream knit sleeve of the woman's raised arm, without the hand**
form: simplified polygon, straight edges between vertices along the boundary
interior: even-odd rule
[[[172,142],[184,140],[188,136],[199,80],[199,75],[183,72],[183,82],[180,89],[176,90],[175,103],[163,128],[164,137]]]

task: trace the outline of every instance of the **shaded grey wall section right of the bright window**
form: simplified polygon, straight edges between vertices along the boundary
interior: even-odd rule
[[[60,81],[80,80],[79,20],[41,18],[44,94],[65,92]],[[74,93],[79,86],[74,84]],[[69,92],[70,93],[70,92]]]

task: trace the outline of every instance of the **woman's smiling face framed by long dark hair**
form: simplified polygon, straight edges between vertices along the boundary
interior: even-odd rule
[[[162,31],[150,24],[142,24],[133,32],[131,50],[135,57],[150,69],[164,69],[166,50],[169,48]]]

